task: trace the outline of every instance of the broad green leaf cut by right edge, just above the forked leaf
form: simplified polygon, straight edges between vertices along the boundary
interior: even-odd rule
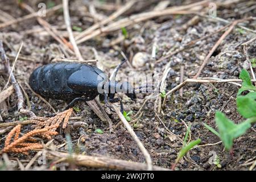
[[[237,110],[245,118],[256,116],[256,92],[249,92],[246,96],[237,96]]]

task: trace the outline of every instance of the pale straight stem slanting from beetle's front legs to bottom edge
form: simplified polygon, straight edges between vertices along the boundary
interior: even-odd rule
[[[127,131],[130,133],[131,137],[134,139],[134,141],[137,143],[139,149],[142,151],[142,154],[144,155],[145,159],[146,159],[146,163],[147,163],[147,170],[152,170],[152,160],[150,157],[150,154],[148,153],[148,151],[146,150],[146,148],[143,146],[141,140],[139,140],[139,138],[137,137],[137,135],[135,134],[135,132],[133,131],[133,129],[131,128],[130,124],[126,121],[125,117],[123,116],[123,114],[119,111],[119,109],[117,108],[117,106],[115,106],[114,104],[112,104],[112,107],[115,111],[115,113],[117,113],[118,117],[121,119],[121,121],[123,122],[123,125],[125,125]]]

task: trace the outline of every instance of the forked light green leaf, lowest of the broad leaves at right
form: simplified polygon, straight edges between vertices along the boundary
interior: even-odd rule
[[[225,114],[220,111],[216,112],[215,121],[218,126],[220,138],[224,143],[226,150],[230,150],[233,145],[233,140],[244,134],[251,126],[249,121],[236,125],[230,119],[226,118]]]

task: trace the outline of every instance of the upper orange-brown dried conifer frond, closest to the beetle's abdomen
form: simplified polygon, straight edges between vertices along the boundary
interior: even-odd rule
[[[68,125],[68,119],[71,117],[73,109],[68,109],[65,110],[61,113],[56,114],[54,117],[51,118],[39,118],[36,117],[33,120],[36,121],[35,125],[33,127],[35,127],[35,129],[42,129],[44,127],[48,127],[48,126],[53,126],[53,125],[59,125],[61,124],[61,122],[63,122],[62,128],[65,129],[65,127],[67,127]],[[52,128],[51,131],[55,131],[57,129],[56,128]],[[45,136],[47,136],[45,134]]]

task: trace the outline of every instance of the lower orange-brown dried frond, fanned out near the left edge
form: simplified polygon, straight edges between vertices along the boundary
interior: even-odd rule
[[[52,135],[56,135],[56,131],[51,131],[53,128],[57,128],[59,125],[53,125],[45,127],[44,129],[35,129],[19,138],[21,125],[17,125],[10,131],[5,140],[5,147],[2,152],[15,152],[28,154],[28,151],[35,150],[37,148],[43,148],[41,143],[31,143],[31,137],[35,135],[47,135],[51,138]],[[13,139],[13,142],[11,142]]]

